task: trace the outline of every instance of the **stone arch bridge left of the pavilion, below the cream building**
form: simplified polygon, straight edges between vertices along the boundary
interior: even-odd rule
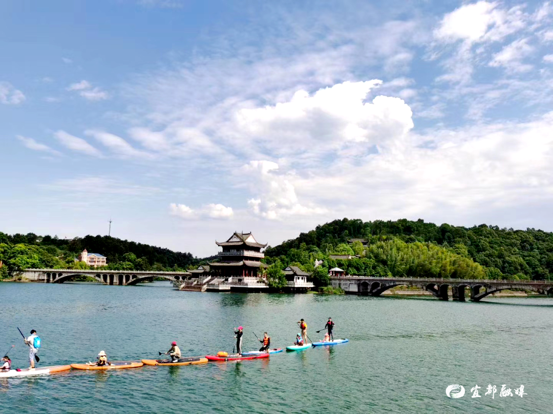
[[[152,278],[183,280],[189,272],[142,272],[137,270],[74,270],[74,269],[27,269],[20,276],[31,282],[64,283],[75,276],[88,276],[106,285],[135,285]]]

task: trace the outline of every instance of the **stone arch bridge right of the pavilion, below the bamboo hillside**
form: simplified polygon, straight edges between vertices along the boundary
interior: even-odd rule
[[[426,279],[426,278],[369,278],[359,276],[332,277],[330,283],[348,294],[379,296],[395,286],[415,286],[427,290],[436,298],[479,301],[505,289],[526,289],[540,294],[553,294],[553,280],[493,280],[493,279]],[[468,295],[466,294],[468,291]]]

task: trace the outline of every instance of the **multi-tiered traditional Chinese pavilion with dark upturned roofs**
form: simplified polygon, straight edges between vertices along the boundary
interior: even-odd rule
[[[238,283],[262,277],[263,268],[267,264],[259,260],[265,257],[261,249],[267,247],[267,243],[258,243],[251,232],[235,232],[226,242],[215,243],[222,251],[218,253],[220,261],[210,263],[213,277]]]

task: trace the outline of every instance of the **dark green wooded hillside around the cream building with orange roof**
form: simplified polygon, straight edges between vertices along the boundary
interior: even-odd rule
[[[166,248],[144,245],[109,236],[85,236],[60,239],[51,236],[7,235],[0,232],[0,278],[27,268],[80,268],[75,262],[82,250],[107,256],[107,269],[120,270],[185,270],[199,263],[190,253],[174,252]]]

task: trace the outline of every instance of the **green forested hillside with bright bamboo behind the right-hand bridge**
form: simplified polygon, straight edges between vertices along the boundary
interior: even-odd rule
[[[359,242],[348,245],[351,238],[363,238],[368,246]],[[329,258],[329,254],[340,253],[357,254],[359,258]],[[338,266],[351,274],[535,280],[553,277],[553,233],[484,224],[467,228],[436,226],[424,220],[335,220],[268,247],[265,255],[268,263],[279,259],[283,264],[301,264],[305,270],[313,270],[316,258],[323,259],[324,268]]]

